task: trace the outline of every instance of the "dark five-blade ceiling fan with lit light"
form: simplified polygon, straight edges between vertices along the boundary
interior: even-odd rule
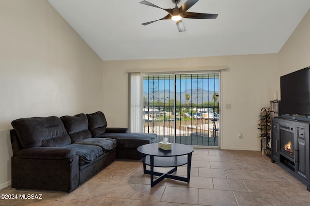
[[[157,19],[155,21],[158,20],[163,20],[163,19],[172,19],[174,21],[176,21],[176,26],[179,30],[179,32],[185,31],[185,27],[183,25],[182,22],[182,18],[196,18],[196,19],[216,19],[217,15],[215,14],[203,14],[203,13],[194,13],[194,12],[187,12],[187,10],[192,7],[195,3],[197,3],[197,1],[199,0],[187,0],[182,6],[178,7],[178,3],[180,2],[180,0],[172,0],[173,3],[175,3],[175,7],[173,9],[163,9],[160,8],[159,6],[156,6],[153,3],[150,3],[146,0],[142,0],[140,3],[147,5],[147,6],[153,6],[155,8],[158,9],[163,9],[166,12],[168,12],[169,14],[164,16],[161,19]],[[149,22],[145,22],[142,25],[148,25],[151,24],[155,21],[149,21]]]

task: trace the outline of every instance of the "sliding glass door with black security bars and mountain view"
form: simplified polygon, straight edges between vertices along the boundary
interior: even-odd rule
[[[218,147],[219,73],[143,77],[143,131],[159,141]]]

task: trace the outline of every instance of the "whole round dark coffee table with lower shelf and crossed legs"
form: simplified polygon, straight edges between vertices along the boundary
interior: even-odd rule
[[[142,145],[138,147],[137,150],[144,155],[141,159],[143,162],[143,173],[151,176],[151,187],[154,187],[164,178],[189,182],[192,153],[194,151],[193,147],[171,143],[171,150],[163,150],[158,148],[158,143],[153,143]],[[178,166],[185,164],[187,164],[187,177],[172,175],[172,173],[177,170]],[[150,166],[150,170],[146,169],[146,165]],[[174,168],[167,173],[159,173],[154,171],[154,167]],[[154,180],[154,176],[159,177]]]

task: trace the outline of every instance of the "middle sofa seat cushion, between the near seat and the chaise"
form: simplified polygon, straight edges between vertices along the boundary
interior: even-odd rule
[[[99,146],[105,152],[114,149],[117,146],[117,141],[111,138],[89,138],[78,141],[75,144]]]

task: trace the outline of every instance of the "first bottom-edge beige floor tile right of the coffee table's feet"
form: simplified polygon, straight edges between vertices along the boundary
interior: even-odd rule
[[[199,189],[199,205],[237,206],[233,191]]]

